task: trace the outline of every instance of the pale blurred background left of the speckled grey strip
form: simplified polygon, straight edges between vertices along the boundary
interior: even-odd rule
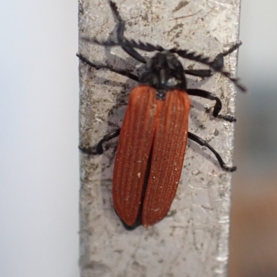
[[[78,1],[1,1],[0,276],[78,276]]]

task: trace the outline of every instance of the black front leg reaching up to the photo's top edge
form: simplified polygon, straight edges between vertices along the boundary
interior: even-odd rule
[[[143,56],[141,56],[141,54],[139,54],[139,52],[134,50],[134,48],[132,48],[132,47],[124,45],[124,41],[125,41],[125,37],[124,37],[125,21],[120,16],[120,14],[118,12],[118,8],[116,6],[116,3],[114,3],[113,1],[109,1],[109,6],[111,7],[112,12],[114,12],[114,15],[116,16],[116,19],[118,20],[118,26],[116,28],[116,35],[117,35],[118,42],[123,44],[121,47],[123,48],[123,50],[125,50],[125,52],[127,52],[127,54],[129,56],[131,56],[134,59],[136,59],[137,61],[141,61],[143,64],[145,64],[146,60],[144,59]]]

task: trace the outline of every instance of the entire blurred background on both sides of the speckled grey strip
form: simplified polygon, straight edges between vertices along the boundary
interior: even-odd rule
[[[277,276],[276,10],[242,0],[230,277]],[[78,3],[2,1],[0,13],[0,276],[75,277]]]

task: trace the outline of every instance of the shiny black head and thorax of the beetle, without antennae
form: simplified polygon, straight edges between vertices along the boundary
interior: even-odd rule
[[[164,99],[166,91],[172,88],[186,90],[184,68],[177,57],[167,50],[157,52],[146,62],[139,83],[156,88],[158,99]]]

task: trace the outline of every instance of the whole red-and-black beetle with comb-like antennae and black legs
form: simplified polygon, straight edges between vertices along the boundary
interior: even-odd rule
[[[225,171],[236,169],[235,166],[226,166],[222,157],[205,140],[188,132],[189,95],[215,100],[213,117],[227,122],[235,122],[235,117],[220,114],[222,102],[213,93],[187,88],[186,74],[211,77],[214,72],[219,72],[245,90],[238,84],[238,79],[223,70],[224,57],[238,49],[241,42],[236,42],[211,60],[188,50],[166,50],[161,46],[128,40],[124,36],[125,21],[120,17],[116,3],[109,1],[109,5],[118,20],[116,39],[82,39],[102,46],[120,46],[129,56],[140,61],[143,68],[136,76],[128,70],[98,64],[77,54],[80,61],[96,70],[107,68],[139,83],[129,95],[121,128],[102,137],[96,146],[79,148],[83,153],[99,155],[104,151],[102,144],[119,135],[112,182],[114,209],[127,229],[139,225],[150,227],[167,215],[175,198],[187,139],[210,149]],[[147,58],[136,49],[156,53]],[[200,62],[210,69],[185,69],[178,57]]]

